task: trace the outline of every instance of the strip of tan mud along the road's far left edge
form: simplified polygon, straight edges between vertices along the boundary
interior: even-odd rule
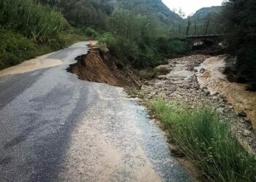
[[[53,66],[59,66],[62,64],[61,60],[48,59],[48,55],[42,55],[38,58],[26,60],[17,66],[12,66],[0,71],[0,77],[9,74],[23,74],[29,71],[34,71],[41,68],[48,68]]]

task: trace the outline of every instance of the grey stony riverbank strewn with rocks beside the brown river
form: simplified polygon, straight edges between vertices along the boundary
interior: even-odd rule
[[[206,58],[206,55],[191,55],[184,58],[169,60],[169,64],[158,66],[156,69],[170,69],[170,73],[160,75],[157,79],[146,81],[142,87],[142,102],[153,98],[165,98],[178,104],[185,104],[191,108],[203,105],[215,108],[222,119],[230,121],[231,130],[236,134],[238,141],[248,149],[256,151],[255,132],[249,119],[237,113],[234,106],[219,92],[210,92],[207,87],[201,86],[197,81],[197,70]],[[203,73],[201,68],[199,72]]]

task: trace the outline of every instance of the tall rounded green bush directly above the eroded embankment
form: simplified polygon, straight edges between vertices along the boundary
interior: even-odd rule
[[[127,9],[118,9],[107,20],[105,41],[110,52],[118,59],[118,65],[135,68],[154,66],[161,58],[152,46],[156,29],[146,16]]]

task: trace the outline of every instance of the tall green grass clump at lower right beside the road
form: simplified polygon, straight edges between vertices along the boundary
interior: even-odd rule
[[[239,145],[216,111],[188,109],[162,99],[152,100],[149,108],[208,181],[256,181],[255,155]]]

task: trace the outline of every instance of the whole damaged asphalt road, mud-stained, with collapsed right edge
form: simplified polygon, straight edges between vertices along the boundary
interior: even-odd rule
[[[48,55],[60,66],[0,77],[0,181],[189,181],[143,107],[67,73],[87,50],[80,42]]]

